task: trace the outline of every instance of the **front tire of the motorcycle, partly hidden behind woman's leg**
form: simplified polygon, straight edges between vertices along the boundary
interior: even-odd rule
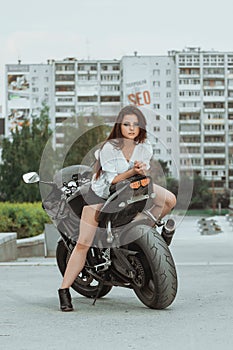
[[[63,240],[60,240],[57,244],[56,260],[57,260],[58,268],[62,276],[64,276],[66,266],[69,260],[69,252]],[[97,293],[98,293],[98,298],[102,298],[105,295],[107,295],[112,289],[112,286],[103,285],[101,290],[99,291],[99,282],[93,280],[91,276],[89,277],[90,277],[90,281],[89,281],[90,283],[88,282],[88,280],[84,282],[78,277],[76,278],[76,280],[74,281],[71,287],[77,293],[87,298],[96,298]],[[95,282],[95,285],[91,285],[93,281]]]

